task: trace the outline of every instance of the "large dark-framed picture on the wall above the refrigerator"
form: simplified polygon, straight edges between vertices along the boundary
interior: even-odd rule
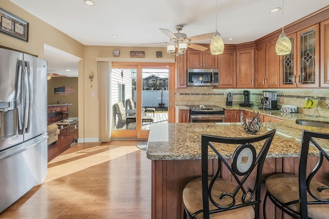
[[[29,23],[0,8],[0,32],[28,42]]]

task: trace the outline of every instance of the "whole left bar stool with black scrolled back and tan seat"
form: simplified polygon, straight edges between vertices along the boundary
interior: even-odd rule
[[[201,135],[202,176],[183,190],[184,218],[259,218],[262,169],[275,132],[236,138]],[[252,144],[257,145],[258,155]],[[229,164],[219,151],[234,145]],[[222,172],[234,180],[220,178]]]

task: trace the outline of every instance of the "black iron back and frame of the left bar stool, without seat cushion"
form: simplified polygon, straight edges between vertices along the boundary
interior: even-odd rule
[[[190,217],[196,218],[198,214],[202,213],[203,218],[209,218],[211,214],[234,209],[241,210],[246,206],[251,206],[253,211],[252,206],[254,206],[254,218],[259,218],[261,174],[275,132],[276,130],[273,129],[262,135],[237,138],[202,135],[202,208],[190,212],[185,205],[185,215],[189,214]],[[217,145],[217,143],[221,144]],[[225,158],[219,152],[223,144],[239,145],[233,153],[231,164],[227,162],[227,157]],[[258,154],[253,145],[257,145]],[[217,169],[212,176],[209,176],[209,158],[216,157],[218,157],[218,163],[216,161],[214,166],[217,166]],[[232,182],[220,178],[221,171],[224,169],[228,170],[234,178]],[[255,178],[249,177],[251,173],[254,176],[255,171],[257,171]],[[218,190],[217,181],[220,181],[221,185],[230,185],[230,189],[226,190],[226,186],[222,186],[223,188]],[[225,216],[228,215],[225,214]]]

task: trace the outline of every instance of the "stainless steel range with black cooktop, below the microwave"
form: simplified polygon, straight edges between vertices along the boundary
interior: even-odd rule
[[[223,123],[224,108],[215,105],[191,105],[190,123]]]

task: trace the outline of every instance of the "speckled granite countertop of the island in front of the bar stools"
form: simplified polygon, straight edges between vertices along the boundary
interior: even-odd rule
[[[297,125],[295,120],[281,123],[263,123],[257,134],[277,130],[267,157],[298,157],[302,130],[329,132],[328,129]],[[150,160],[194,160],[201,157],[201,134],[221,136],[251,136],[246,134],[240,123],[159,123],[152,124],[149,133],[147,157]],[[231,146],[218,145],[222,155],[231,158]],[[255,145],[256,150],[260,147]],[[329,151],[329,147],[327,148]],[[309,155],[318,156],[318,151],[310,149]]]

